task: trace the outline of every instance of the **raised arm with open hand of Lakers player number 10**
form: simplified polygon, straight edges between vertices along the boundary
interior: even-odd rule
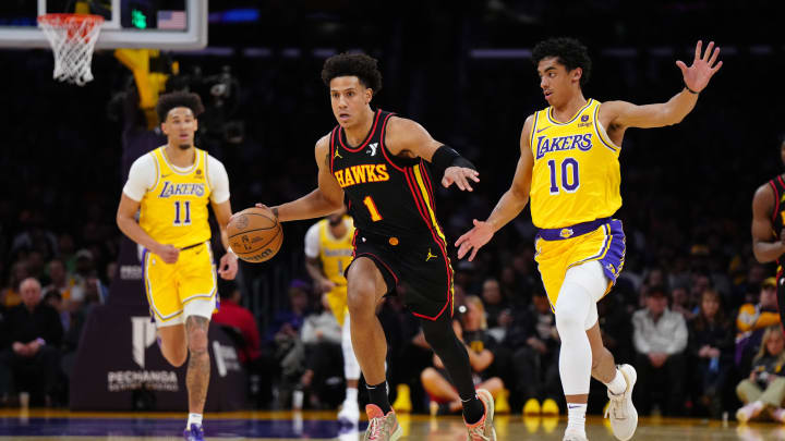
[[[702,47],[702,41],[698,41],[690,66],[681,60],[676,61],[676,65],[681,70],[685,87],[667,102],[636,106],[626,101],[608,101],[600,107],[601,121],[608,128],[650,128],[681,122],[692,111],[699,94],[723,64],[722,61],[717,62],[720,48],[714,47],[714,41],[709,42],[705,52]]]

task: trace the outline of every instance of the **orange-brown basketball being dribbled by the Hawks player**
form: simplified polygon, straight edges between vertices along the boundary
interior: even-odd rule
[[[246,208],[227,225],[229,246],[247,262],[258,264],[273,258],[283,243],[283,229],[269,208]]]

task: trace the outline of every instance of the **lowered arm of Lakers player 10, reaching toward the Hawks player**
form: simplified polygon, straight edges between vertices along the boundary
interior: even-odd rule
[[[530,115],[523,124],[520,138],[521,156],[518,159],[516,174],[509,189],[502,196],[487,220],[483,222],[474,219],[472,221],[474,226],[456,241],[455,245],[458,247],[459,259],[462,259],[463,256],[471,252],[469,261],[474,260],[476,253],[491,241],[494,233],[515,219],[529,203],[532,169],[534,167],[534,157],[531,152],[529,136],[533,121],[533,115]]]

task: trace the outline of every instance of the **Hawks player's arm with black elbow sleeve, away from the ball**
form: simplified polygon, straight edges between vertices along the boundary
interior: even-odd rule
[[[396,156],[422,158],[431,162],[442,174],[442,185],[452,184],[462,191],[473,191],[470,181],[480,182],[480,173],[454,148],[434,139],[431,134],[412,120],[391,118],[387,123],[385,146]]]

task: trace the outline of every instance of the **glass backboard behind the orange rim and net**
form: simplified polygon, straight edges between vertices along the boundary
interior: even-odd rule
[[[208,0],[0,0],[0,48],[48,48],[36,19],[89,5],[105,19],[96,49],[207,46]]]

